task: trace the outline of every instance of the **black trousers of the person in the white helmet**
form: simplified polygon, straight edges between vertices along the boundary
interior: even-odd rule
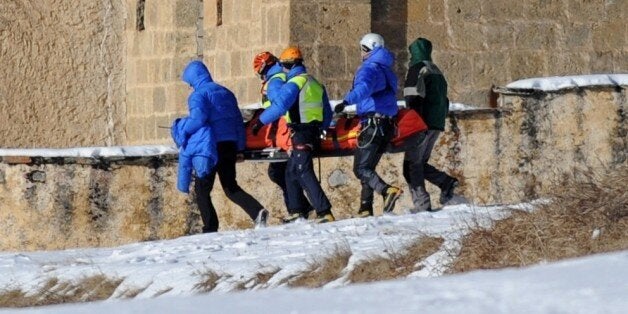
[[[362,184],[360,210],[373,210],[373,191],[383,194],[389,186],[375,172],[375,168],[386,151],[395,133],[390,119],[370,119],[363,123],[358,137],[358,148],[353,157],[353,173]]]

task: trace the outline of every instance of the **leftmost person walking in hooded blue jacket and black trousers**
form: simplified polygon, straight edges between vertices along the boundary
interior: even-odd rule
[[[190,62],[182,78],[194,89],[188,98],[190,117],[195,117],[195,125],[209,127],[218,153],[216,167],[205,176],[196,173],[194,181],[196,202],[204,224],[203,232],[218,231],[218,216],[210,198],[216,174],[226,196],[246,211],[255,221],[256,227],[265,226],[268,211],[243,191],[236,181],[235,164],[244,160],[245,146],[244,122],[236,97],[212,80],[201,61]]]

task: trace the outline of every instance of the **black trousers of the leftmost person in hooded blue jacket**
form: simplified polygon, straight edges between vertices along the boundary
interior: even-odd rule
[[[203,232],[218,231],[218,215],[216,214],[216,209],[212,204],[210,196],[214,188],[216,174],[218,174],[220,185],[222,185],[225,195],[232,202],[244,209],[251,219],[255,220],[257,214],[263,208],[251,195],[244,192],[236,181],[236,143],[232,141],[219,142],[217,149],[218,164],[214,170],[207,177],[196,178],[194,182],[196,203],[201,212],[201,218],[204,224]]]

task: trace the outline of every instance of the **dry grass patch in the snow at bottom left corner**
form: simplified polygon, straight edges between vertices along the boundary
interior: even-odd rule
[[[79,282],[61,282],[57,278],[47,280],[35,293],[21,289],[0,292],[0,307],[31,307],[62,303],[105,300],[122,283],[104,275],[85,277]]]

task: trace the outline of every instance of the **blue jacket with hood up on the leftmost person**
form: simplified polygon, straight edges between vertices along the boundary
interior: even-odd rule
[[[207,121],[216,143],[234,141],[239,151],[244,150],[245,133],[238,101],[226,87],[214,83],[207,67],[200,61],[192,61],[183,71],[183,81],[194,88],[188,98],[190,110],[196,109],[200,121]],[[200,108],[205,108],[200,110]],[[190,111],[190,116],[193,113]],[[190,125],[191,128],[200,125]]]

